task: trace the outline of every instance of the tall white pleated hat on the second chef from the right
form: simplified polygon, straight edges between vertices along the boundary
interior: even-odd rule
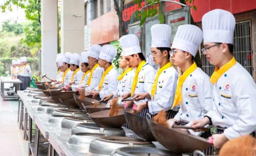
[[[196,56],[203,39],[203,32],[197,26],[184,24],[178,27],[171,48],[177,48]]]

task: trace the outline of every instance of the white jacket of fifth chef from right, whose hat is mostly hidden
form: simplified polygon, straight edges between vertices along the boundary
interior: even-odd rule
[[[113,97],[120,96],[126,92],[131,92],[134,75],[134,70],[131,70],[124,75],[124,77],[118,82],[117,89],[112,92]]]

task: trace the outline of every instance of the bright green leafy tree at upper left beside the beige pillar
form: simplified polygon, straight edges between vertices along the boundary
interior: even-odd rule
[[[26,19],[31,20],[32,24],[24,28],[25,39],[23,43],[30,47],[41,46],[41,0],[6,0],[0,6],[2,12],[12,11],[12,6],[18,6],[25,10]]]

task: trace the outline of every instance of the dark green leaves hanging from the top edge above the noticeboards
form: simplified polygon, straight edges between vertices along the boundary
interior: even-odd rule
[[[132,16],[135,16],[138,20],[140,20],[140,26],[144,24],[146,21],[146,18],[154,17],[156,14],[158,14],[158,19],[161,24],[164,23],[164,15],[161,12],[161,9],[158,5],[160,3],[159,0],[145,0],[146,6],[144,9],[141,9],[141,3],[143,0],[134,0],[134,4],[138,4],[138,9],[135,10],[132,14]],[[180,0],[183,3],[188,2],[189,4],[192,4],[193,9],[196,10],[196,6],[194,5],[194,0]]]

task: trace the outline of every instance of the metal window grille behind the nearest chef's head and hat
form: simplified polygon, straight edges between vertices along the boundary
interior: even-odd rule
[[[251,20],[237,22],[234,32],[234,50],[233,54],[236,61],[239,62],[251,75],[252,69],[252,36]],[[201,54],[202,67],[209,76],[214,72],[214,66],[211,65],[204,54]]]

